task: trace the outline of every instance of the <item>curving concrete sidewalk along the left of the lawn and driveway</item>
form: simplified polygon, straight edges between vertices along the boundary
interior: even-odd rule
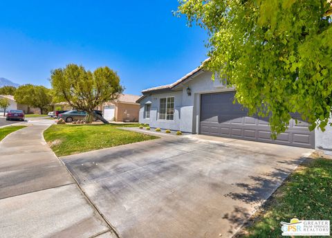
[[[46,144],[50,124],[0,143],[1,237],[116,237]]]

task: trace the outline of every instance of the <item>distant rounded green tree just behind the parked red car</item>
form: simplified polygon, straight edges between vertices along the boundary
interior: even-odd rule
[[[20,104],[26,104],[30,107],[39,108],[40,113],[43,113],[49,109],[50,104],[52,103],[50,89],[33,84],[19,86],[15,91],[14,98]]]

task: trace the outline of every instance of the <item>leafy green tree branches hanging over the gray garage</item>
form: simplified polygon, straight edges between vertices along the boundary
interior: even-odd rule
[[[205,67],[236,87],[250,113],[270,115],[275,134],[293,112],[324,131],[332,107],[331,0],[179,3],[178,15],[208,32]]]

